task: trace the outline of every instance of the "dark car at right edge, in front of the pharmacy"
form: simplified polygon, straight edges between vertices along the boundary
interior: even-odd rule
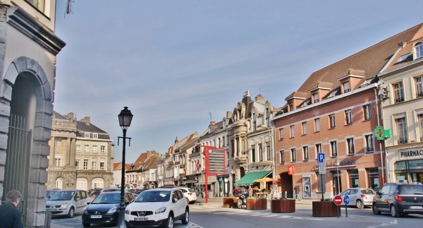
[[[385,184],[373,198],[373,212],[391,212],[392,217],[407,214],[423,215],[422,184]]]

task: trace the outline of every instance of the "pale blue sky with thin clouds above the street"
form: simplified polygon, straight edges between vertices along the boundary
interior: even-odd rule
[[[243,92],[274,107],[314,72],[422,20],[422,2],[398,0],[57,1],[54,110],[90,116],[114,140],[128,107],[125,163],[165,154],[210,121],[222,121]]]

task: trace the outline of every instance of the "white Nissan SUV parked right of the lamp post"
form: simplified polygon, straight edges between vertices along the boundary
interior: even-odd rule
[[[190,208],[178,188],[142,191],[125,209],[126,227],[173,227],[176,220],[190,222]]]

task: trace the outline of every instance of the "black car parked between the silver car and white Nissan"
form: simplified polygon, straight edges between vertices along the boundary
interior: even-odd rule
[[[125,205],[132,203],[134,196],[125,192]],[[114,224],[118,225],[119,204],[121,203],[121,192],[109,191],[99,194],[82,211],[82,225],[90,227],[91,224]]]

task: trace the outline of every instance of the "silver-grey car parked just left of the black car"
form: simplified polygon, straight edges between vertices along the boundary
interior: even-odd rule
[[[84,190],[62,190],[54,193],[46,203],[46,211],[54,215],[66,215],[73,217],[75,213],[82,212],[88,202],[87,191]]]

